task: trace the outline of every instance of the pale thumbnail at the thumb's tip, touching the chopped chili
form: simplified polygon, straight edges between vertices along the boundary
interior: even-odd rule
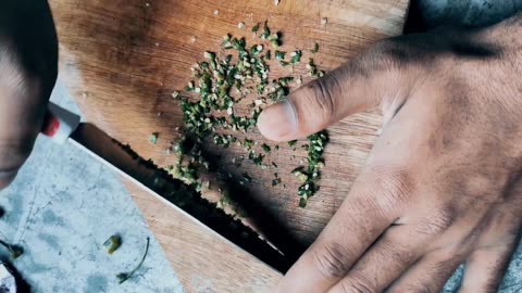
[[[258,128],[270,140],[284,140],[297,131],[296,109],[287,100],[266,107],[259,116]]]

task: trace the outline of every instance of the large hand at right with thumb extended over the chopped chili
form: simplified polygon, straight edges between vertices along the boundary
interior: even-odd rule
[[[522,17],[381,41],[266,109],[269,139],[381,105],[382,135],[277,292],[496,292],[521,234]]]

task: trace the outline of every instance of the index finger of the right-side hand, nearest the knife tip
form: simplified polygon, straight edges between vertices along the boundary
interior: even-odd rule
[[[398,208],[383,201],[388,194],[380,187],[381,180],[364,177],[355,183],[318,241],[290,268],[277,292],[326,292],[397,218]]]

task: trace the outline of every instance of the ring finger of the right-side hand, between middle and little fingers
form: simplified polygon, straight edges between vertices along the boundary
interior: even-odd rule
[[[431,252],[419,259],[386,292],[440,292],[464,258],[465,254],[456,254],[448,250]]]

